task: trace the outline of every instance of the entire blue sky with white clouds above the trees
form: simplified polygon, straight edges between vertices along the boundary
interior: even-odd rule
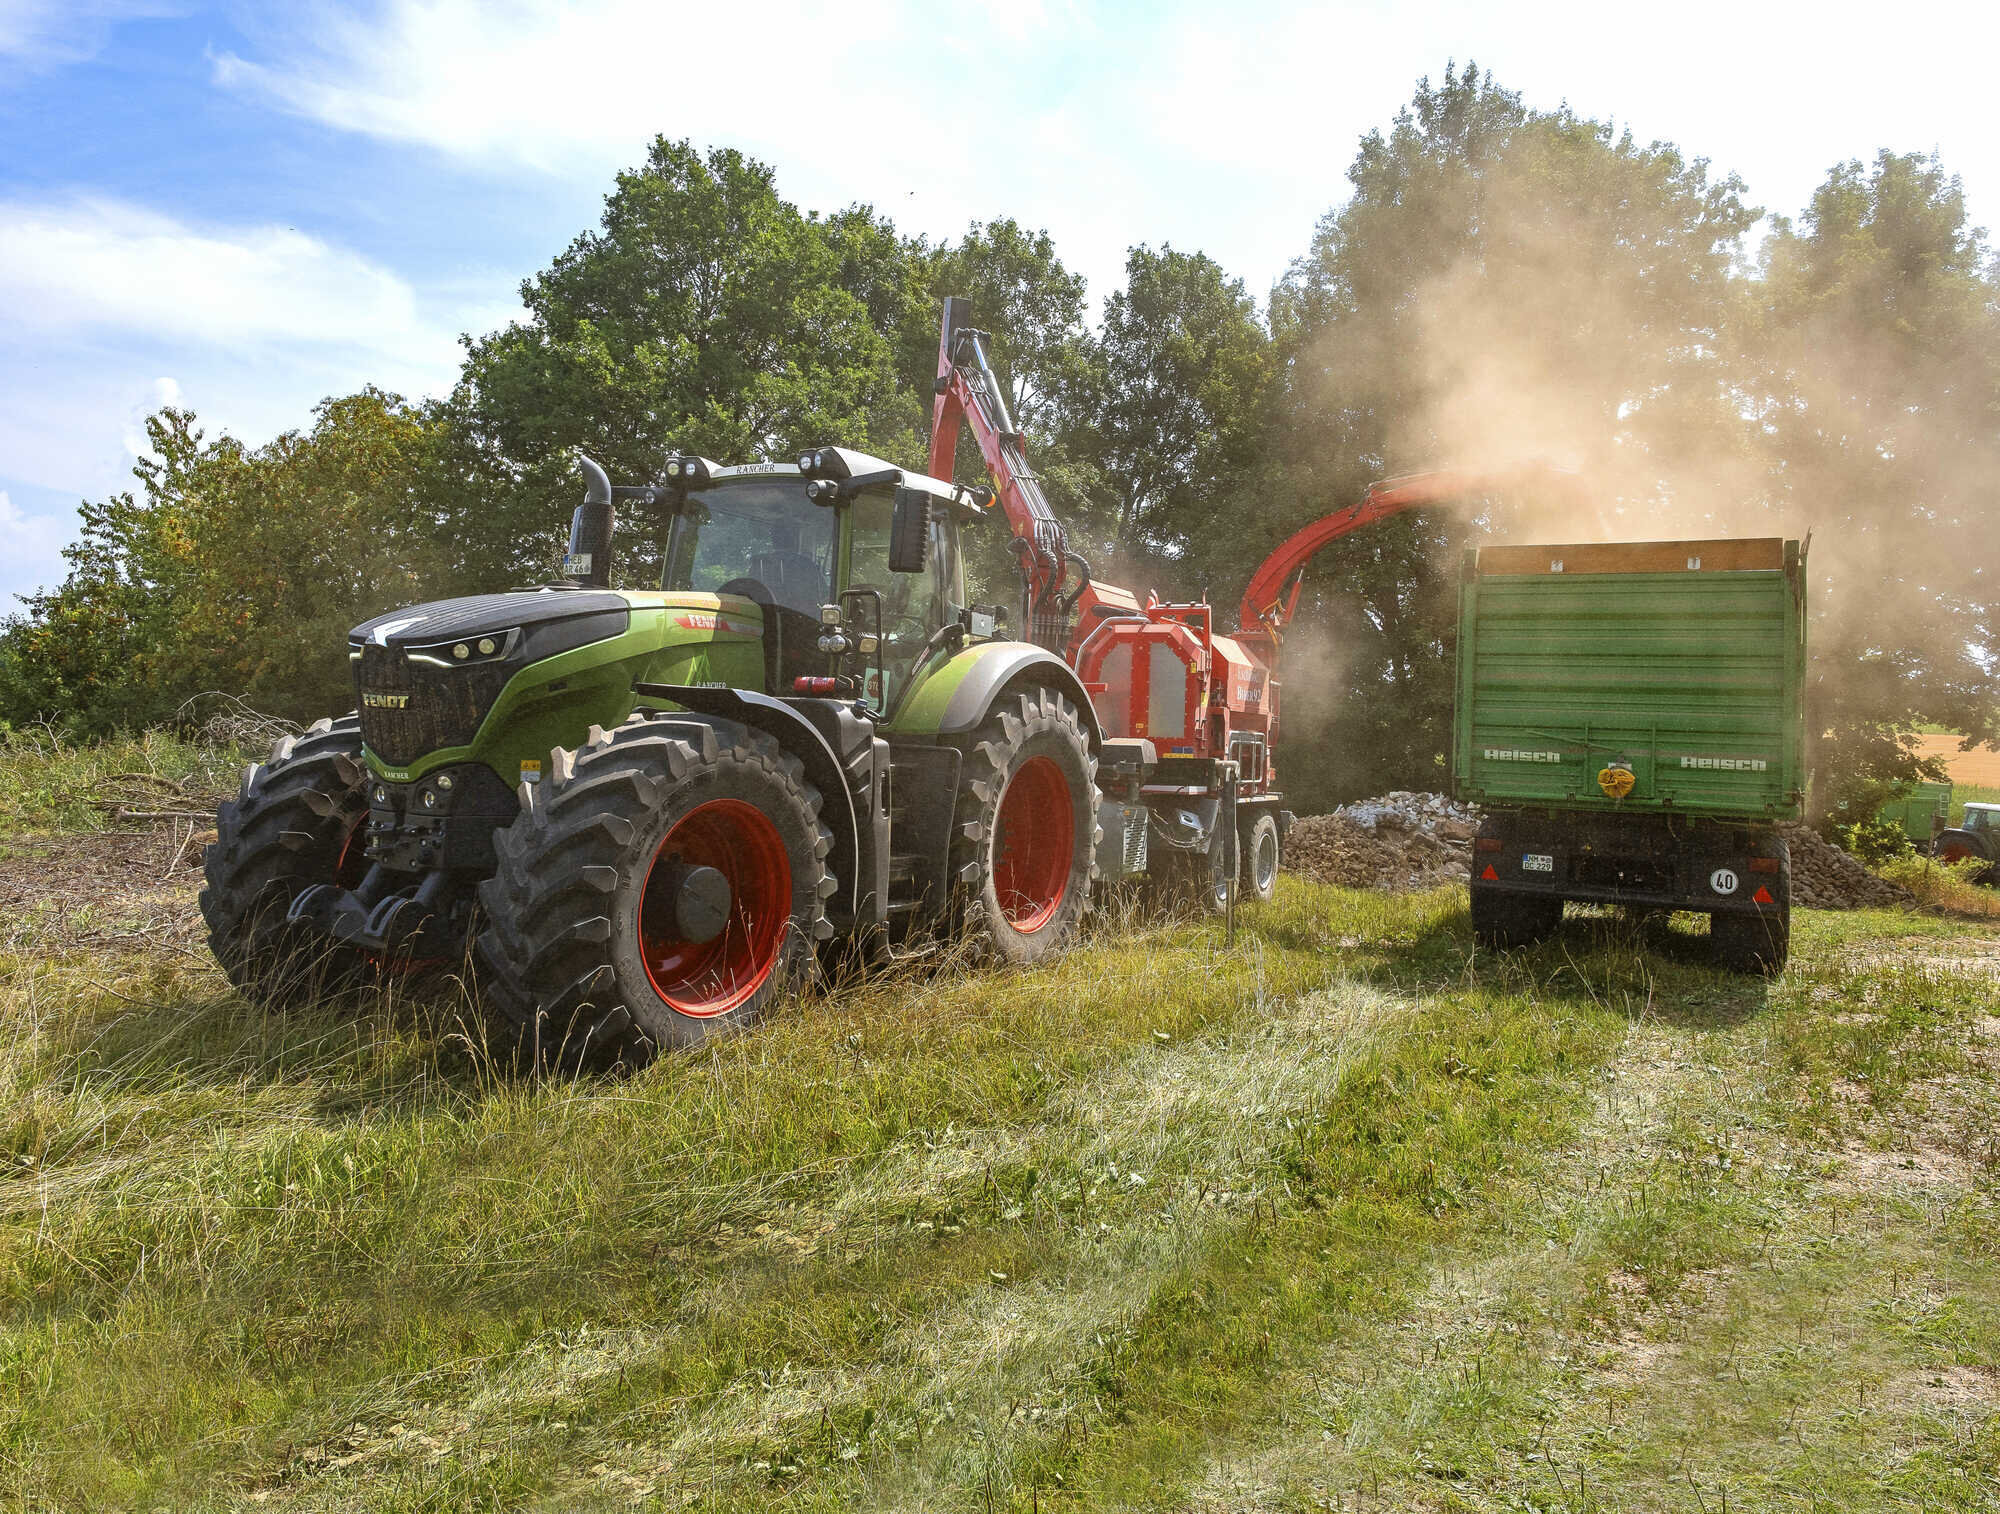
[[[0,596],[60,580],[162,402],[260,442],[446,388],[656,132],[932,238],[1046,226],[1094,300],[1134,242],[1262,294],[1452,58],[1780,212],[1936,150],[1992,224],[1996,42],[1992,4],[0,0]]]

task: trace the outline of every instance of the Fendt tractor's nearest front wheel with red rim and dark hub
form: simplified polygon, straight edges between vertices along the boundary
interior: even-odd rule
[[[480,884],[480,994],[538,1066],[638,1066],[756,1020],[832,934],[800,760],[708,716],[550,752]]]

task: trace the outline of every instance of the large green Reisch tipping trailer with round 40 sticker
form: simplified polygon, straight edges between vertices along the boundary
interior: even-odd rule
[[[1778,538],[1466,554],[1452,776],[1486,816],[1486,944],[1532,942],[1578,900],[1698,910],[1722,964],[1784,966],[1804,566]]]

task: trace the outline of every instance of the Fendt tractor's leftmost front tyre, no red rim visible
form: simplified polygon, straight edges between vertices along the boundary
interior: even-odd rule
[[[362,880],[366,820],[368,770],[354,716],[286,736],[224,800],[202,856],[202,918],[216,962],[246,998],[282,1008],[362,978],[360,952],[290,924],[286,910],[314,884]]]

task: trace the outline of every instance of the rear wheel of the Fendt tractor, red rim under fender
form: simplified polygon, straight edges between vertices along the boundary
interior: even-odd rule
[[[1090,908],[1098,762],[1076,706],[1048,688],[1012,694],[972,738],[952,824],[952,878],[984,956],[1038,962]]]

